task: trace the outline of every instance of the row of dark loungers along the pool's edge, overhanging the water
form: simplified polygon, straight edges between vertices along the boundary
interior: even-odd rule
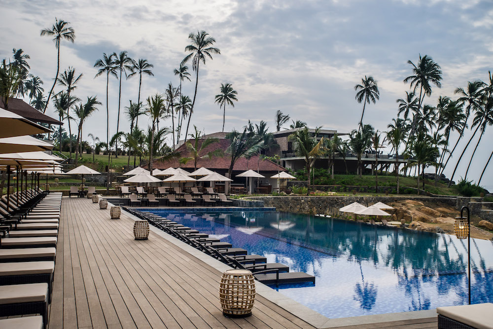
[[[141,219],[148,220],[149,223],[164,232],[233,268],[250,270],[255,279],[262,283],[279,285],[312,282],[315,284],[315,277],[312,275],[289,272],[289,267],[286,265],[267,263],[267,258],[264,256],[247,255],[247,251],[243,248],[233,248],[230,243],[210,238],[209,235],[179,224],[171,218],[163,218],[149,212],[126,210]]]

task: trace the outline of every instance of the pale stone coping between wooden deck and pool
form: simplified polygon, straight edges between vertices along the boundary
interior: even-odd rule
[[[141,220],[138,217],[128,212],[125,212],[125,214],[131,219]],[[182,241],[179,241],[178,239],[165,233],[164,231],[160,230],[159,228],[153,225],[149,225],[149,228],[152,232],[156,233],[166,241],[174,244],[176,247],[182,249],[183,251],[187,252],[191,256],[194,256],[195,258],[202,260],[207,265],[211,266],[212,268],[220,272],[224,272],[226,270],[232,269],[232,267],[220,262],[219,260],[211,256],[204,254],[203,252],[193,248],[192,246],[187,245]],[[308,324],[318,329],[335,328],[335,327],[343,327],[343,326],[355,326],[355,325],[370,325],[375,323],[391,322],[391,321],[417,320],[417,319],[426,319],[426,318],[432,318],[437,316],[436,309],[430,309],[425,311],[384,313],[384,314],[362,315],[356,317],[331,319],[297,302],[296,300],[283,295],[281,292],[278,292],[272,289],[271,287],[264,285],[261,282],[258,281],[255,282],[255,291],[258,295],[266,298],[267,300],[273,302],[274,304],[283,308],[287,312],[297,316],[301,320],[307,322]]]

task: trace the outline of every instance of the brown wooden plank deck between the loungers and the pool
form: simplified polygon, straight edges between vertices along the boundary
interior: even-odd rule
[[[221,273],[134,221],[111,220],[86,198],[63,198],[49,328],[313,328],[258,296],[253,315],[228,319]]]

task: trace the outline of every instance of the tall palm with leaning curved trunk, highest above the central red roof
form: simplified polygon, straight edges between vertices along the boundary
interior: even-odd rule
[[[195,99],[197,97],[197,86],[199,84],[199,65],[202,62],[206,65],[206,57],[212,60],[211,54],[220,54],[219,48],[214,48],[212,45],[215,43],[213,37],[209,37],[209,34],[205,31],[197,31],[197,34],[190,33],[188,39],[192,42],[185,47],[185,51],[189,51],[190,54],[186,55],[181,61],[181,65],[184,65],[190,59],[192,60],[192,70],[195,71],[195,92],[193,94],[192,107],[190,108],[190,115],[188,116],[188,123],[186,125],[185,140],[188,135],[188,127],[190,126],[190,118],[192,117],[193,107],[195,105]]]

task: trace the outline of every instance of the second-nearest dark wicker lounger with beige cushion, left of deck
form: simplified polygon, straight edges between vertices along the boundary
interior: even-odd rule
[[[46,327],[48,324],[48,284],[0,286],[0,317],[26,314],[41,314]]]

